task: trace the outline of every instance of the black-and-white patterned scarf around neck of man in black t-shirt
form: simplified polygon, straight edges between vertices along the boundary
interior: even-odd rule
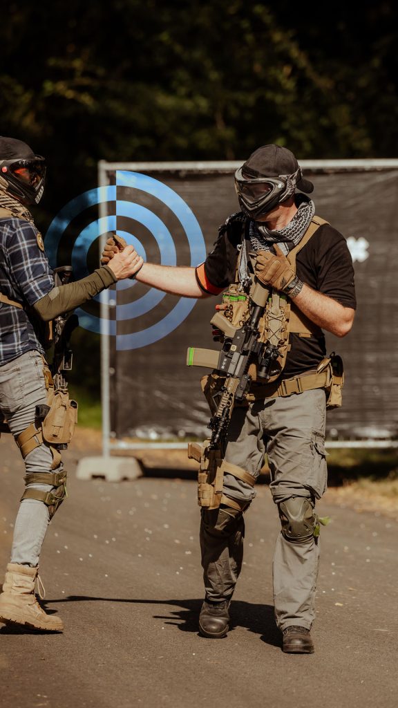
[[[250,247],[253,251],[272,251],[273,245],[278,244],[280,250],[288,255],[289,251],[300,244],[309,222],[315,213],[315,205],[312,200],[300,195],[300,204],[297,205],[297,212],[292,220],[283,229],[271,231],[265,224],[259,222],[249,222]],[[247,244],[249,246],[249,244]],[[241,244],[241,257],[239,258],[239,281],[246,287],[249,285],[249,272],[247,270],[246,240]],[[250,281],[251,282],[251,281]]]

